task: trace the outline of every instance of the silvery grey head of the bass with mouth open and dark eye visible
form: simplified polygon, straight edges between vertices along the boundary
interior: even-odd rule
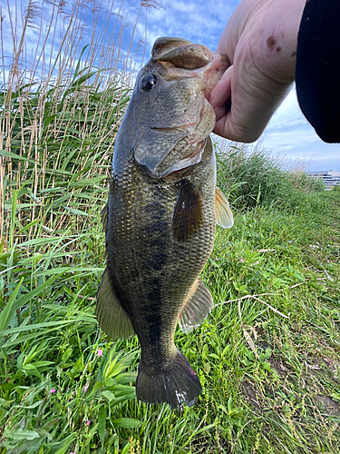
[[[201,161],[216,122],[209,94],[227,67],[227,59],[205,45],[155,42],[130,106],[134,159],[151,178],[180,179]]]

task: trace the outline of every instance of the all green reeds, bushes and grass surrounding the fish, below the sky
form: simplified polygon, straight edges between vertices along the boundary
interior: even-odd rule
[[[202,275],[214,310],[176,333],[203,391],[181,413],[139,402],[137,339],[107,339],[94,316],[129,84],[94,67],[99,41],[79,57],[67,36],[49,72],[24,84],[12,64],[0,93],[1,454],[339,452],[339,192],[261,150],[218,151],[235,226]]]

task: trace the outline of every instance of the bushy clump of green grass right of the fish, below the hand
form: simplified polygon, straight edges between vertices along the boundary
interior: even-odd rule
[[[285,172],[285,160],[267,153],[261,143],[251,153],[242,144],[216,143],[218,184],[238,211],[257,205],[294,210],[301,192],[323,192],[322,180],[303,170]],[[287,165],[286,165],[287,166]],[[297,196],[297,200],[296,200]]]

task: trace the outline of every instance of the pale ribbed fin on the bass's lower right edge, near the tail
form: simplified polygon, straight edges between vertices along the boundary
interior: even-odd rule
[[[213,306],[214,303],[209,290],[198,277],[189,293],[187,302],[180,312],[180,330],[187,333],[198,328]]]

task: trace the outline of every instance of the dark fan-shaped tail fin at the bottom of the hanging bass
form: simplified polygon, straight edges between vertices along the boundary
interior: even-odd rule
[[[148,403],[169,403],[171,409],[182,410],[183,403],[191,407],[199,397],[201,386],[185,356],[177,350],[173,361],[157,374],[141,364],[136,381],[137,398]]]

